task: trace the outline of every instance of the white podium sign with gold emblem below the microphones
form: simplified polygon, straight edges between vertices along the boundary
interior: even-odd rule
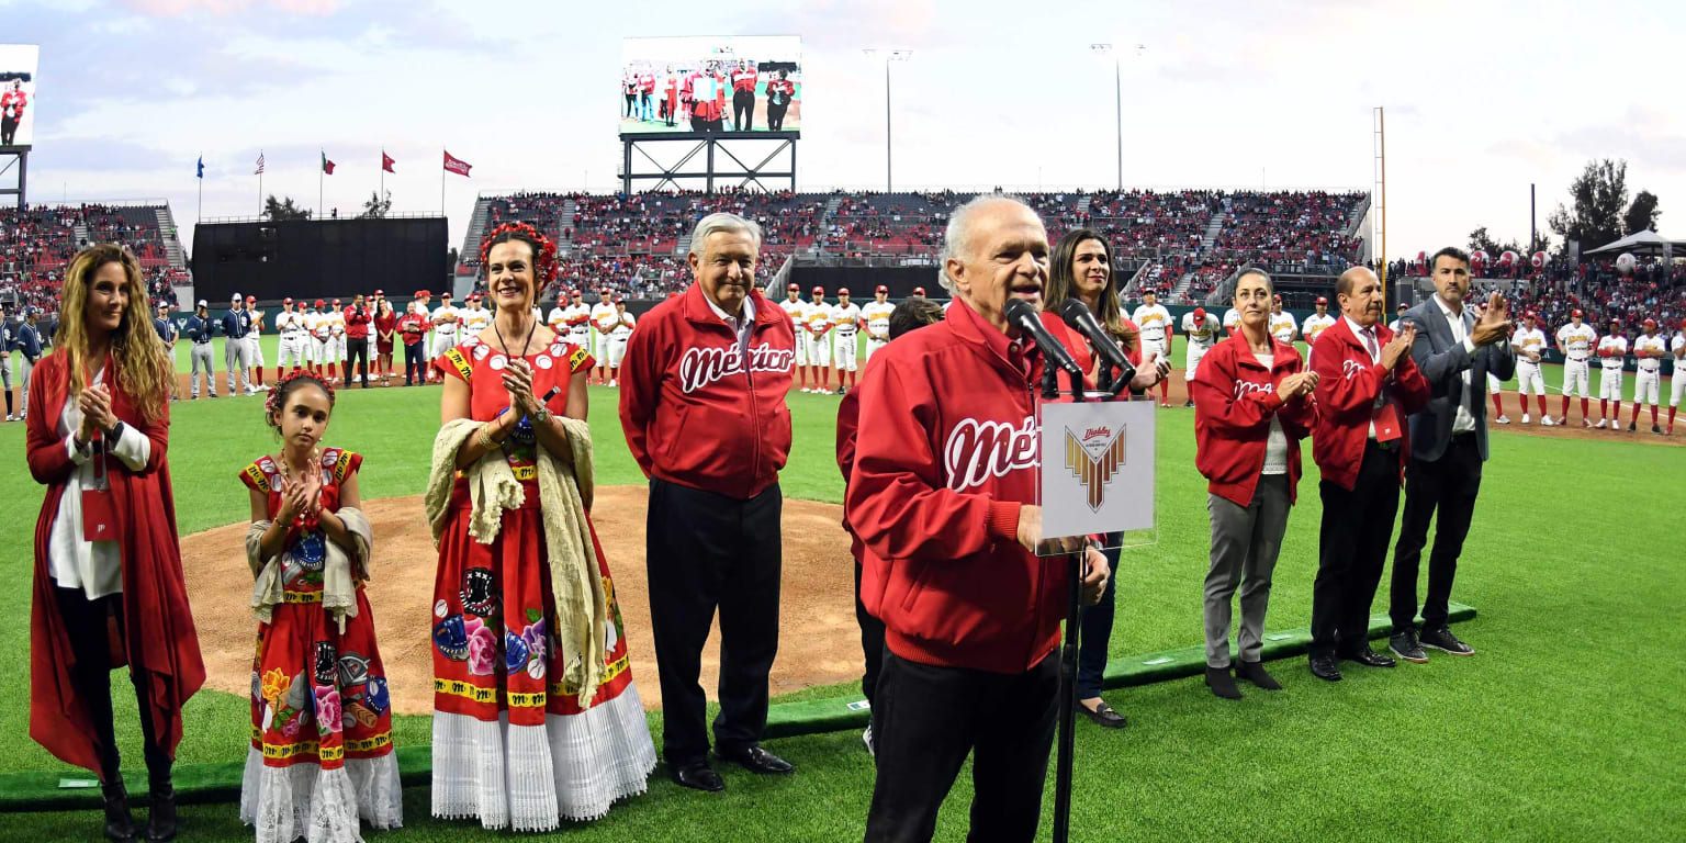
[[[1153,528],[1153,403],[1042,405],[1042,534]]]

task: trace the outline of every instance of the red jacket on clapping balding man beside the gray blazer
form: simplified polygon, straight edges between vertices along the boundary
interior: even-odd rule
[[[1386,347],[1393,339],[1388,325],[1376,322],[1376,346]],[[1317,351],[1324,349],[1324,351]],[[1411,460],[1411,437],[1404,432],[1404,416],[1428,403],[1428,381],[1416,369],[1411,354],[1401,354],[1389,373],[1383,364],[1371,362],[1347,317],[1335,317],[1312,347],[1312,371],[1317,373],[1317,425],[1312,430],[1312,459],[1324,479],[1350,491],[1364,462],[1364,440],[1376,395],[1386,388],[1388,401],[1399,415],[1399,482],[1404,484],[1404,465]]]

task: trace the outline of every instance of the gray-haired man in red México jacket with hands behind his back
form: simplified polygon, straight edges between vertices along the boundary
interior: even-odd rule
[[[644,315],[620,364],[620,428],[649,477],[646,566],[676,782],[722,791],[703,725],[703,642],[720,609],[715,755],[762,774],[791,764],[760,745],[767,671],[779,651],[779,469],[796,366],[791,317],[755,290],[760,228],[737,214],[696,223],[695,283]]]

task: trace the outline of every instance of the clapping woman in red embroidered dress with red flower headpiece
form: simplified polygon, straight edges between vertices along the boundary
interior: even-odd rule
[[[561,642],[583,620],[558,617],[553,580],[563,573],[551,570],[546,545],[546,519],[558,513],[540,506],[540,474],[545,460],[572,464],[566,427],[553,415],[585,418],[593,361],[533,317],[543,285],[555,280],[555,246],[531,226],[504,224],[487,238],[481,263],[497,307],[492,327],[433,361],[445,373],[442,435],[460,420],[482,423],[443,457],[454,465],[433,469],[455,469],[437,533],[433,814],[545,831],[599,818],[614,801],[642,792],[656,752],[609,565],[590,529],[582,533],[590,536],[583,553],[607,605],[593,615],[604,626],[604,664],[593,673],[602,681],[590,695],[565,679]],[[507,462],[521,502],[501,509],[496,536],[482,543],[470,526],[470,479],[487,454],[489,464]]]

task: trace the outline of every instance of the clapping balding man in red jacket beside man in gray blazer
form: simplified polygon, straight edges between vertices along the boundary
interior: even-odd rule
[[[1342,659],[1371,668],[1394,661],[1369,647],[1369,609],[1388,558],[1411,440],[1404,416],[1428,403],[1411,361],[1416,325],[1383,325],[1376,273],[1354,266],[1335,282],[1340,319],[1312,349],[1317,427],[1312,459],[1322,472],[1324,526],[1312,587],[1312,674],[1340,681]]]

